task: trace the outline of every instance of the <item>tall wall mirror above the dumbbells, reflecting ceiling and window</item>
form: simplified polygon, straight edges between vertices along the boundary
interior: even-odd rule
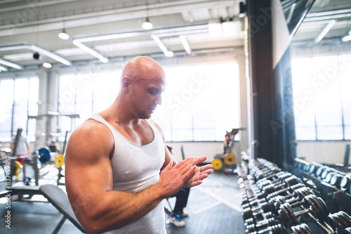
[[[297,151],[309,162],[343,164],[351,144],[350,9],[316,0],[291,42]]]

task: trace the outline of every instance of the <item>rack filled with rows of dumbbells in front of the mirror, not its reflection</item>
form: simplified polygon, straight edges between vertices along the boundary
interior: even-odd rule
[[[246,233],[351,233],[346,212],[330,213],[318,190],[258,158],[237,164]]]

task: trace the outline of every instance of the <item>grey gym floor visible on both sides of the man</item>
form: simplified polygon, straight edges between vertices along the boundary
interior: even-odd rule
[[[55,183],[55,180],[46,181]],[[39,181],[41,184],[41,181]],[[0,190],[4,190],[4,182],[0,182]],[[41,195],[32,197],[35,202],[18,202],[11,199],[11,232],[10,233],[52,233],[62,219],[52,204],[45,202]],[[44,201],[44,202],[43,202]],[[176,202],[175,197],[169,199],[171,206]],[[6,214],[6,200],[0,198],[0,215]],[[164,202],[168,207],[167,202]],[[176,227],[168,223],[168,234],[176,233],[245,233],[241,216],[240,193],[237,186],[237,176],[215,171],[200,186],[190,189],[190,196],[185,211],[189,214],[184,219],[184,227]],[[7,228],[1,224],[0,233]],[[4,230],[4,231],[3,231]],[[58,233],[81,233],[70,221],[66,220]]]

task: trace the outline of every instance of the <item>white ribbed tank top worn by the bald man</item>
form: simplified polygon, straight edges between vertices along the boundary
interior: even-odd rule
[[[111,159],[114,190],[138,193],[159,182],[165,151],[162,134],[154,122],[145,119],[154,133],[152,142],[137,145],[128,141],[100,115],[95,114],[91,119],[105,124],[114,137],[114,154]],[[138,221],[107,233],[166,233],[163,201]]]

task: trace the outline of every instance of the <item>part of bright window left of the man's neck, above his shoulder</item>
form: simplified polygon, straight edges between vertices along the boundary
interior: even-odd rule
[[[80,116],[74,119],[60,116],[60,130],[71,131],[93,113],[111,105],[119,92],[119,77],[121,71],[60,76],[58,112]]]

